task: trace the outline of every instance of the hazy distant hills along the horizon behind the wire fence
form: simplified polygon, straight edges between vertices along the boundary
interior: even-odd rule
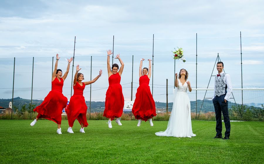
[[[11,101],[12,99],[0,99],[0,106],[3,106],[4,108],[8,108],[9,102]],[[36,106],[40,105],[42,102],[43,100],[32,100],[32,104],[36,104]],[[20,97],[16,97],[13,100],[13,106],[16,106],[18,109],[21,109],[21,106],[23,106],[24,104],[28,105],[29,103],[31,103],[31,100],[22,99]],[[85,103],[89,110],[90,102],[86,101]],[[166,103],[164,102],[155,102],[155,105],[157,109],[166,109]],[[172,102],[168,103],[168,111],[172,110],[172,105],[173,105]],[[232,105],[236,105],[236,104],[232,102],[228,103],[229,108],[231,108]],[[261,107],[261,104],[255,104],[255,103],[249,103],[247,105]],[[196,101],[191,101],[191,112],[196,112],[195,106],[196,106]],[[96,111],[98,112],[104,111],[104,102],[91,102],[91,112],[96,112]],[[199,111],[202,111],[203,113],[214,112],[214,104],[212,100],[205,99],[204,102],[203,100],[197,100],[197,112],[199,113]]]

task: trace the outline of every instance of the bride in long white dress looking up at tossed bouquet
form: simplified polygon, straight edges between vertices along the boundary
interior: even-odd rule
[[[179,73],[179,79],[177,73],[175,74],[175,87],[177,87],[177,93],[174,92],[174,101],[170,119],[167,129],[155,133],[157,136],[173,136],[173,137],[194,137],[192,133],[191,122],[191,104],[187,95],[187,89],[192,91],[192,87],[188,79],[188,72],[185,69],[181,69]]]

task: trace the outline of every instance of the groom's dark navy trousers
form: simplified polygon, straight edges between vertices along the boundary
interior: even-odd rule
[[[228,113],[228,101],[225,102],[226,94],[223,94],[221,96],[216,96],[213,99],[214,103],[214,110],[215,110],[215,118],[216,118],[216,136],[222,136],[222,115],[224,116],[224,122],[226,126],[226,132],[225,136],[230,136],[230,119],[229,119],[229,113]]]

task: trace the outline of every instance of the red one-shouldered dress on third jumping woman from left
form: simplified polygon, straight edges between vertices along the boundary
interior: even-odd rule
[[[109,87],[106,91],[104,116],[113,120],[115,117],[121,117],[124,108],[124,97],[121,77],[119,73],[113,74],[108,78]]]

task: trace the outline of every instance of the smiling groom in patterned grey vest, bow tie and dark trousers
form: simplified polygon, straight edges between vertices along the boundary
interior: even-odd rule
[[[232,84],[230,75],[223,72],[224,63],[217,62],[216,69],[218,74],[214,80],[214,110],[216,118],[216,136],[214,138],[229,139],[230,136],[230,119],[228,114],[228,100],[232,93]],[[222,137],[222,119],[221,112],[224,116],[224,122],[226,126],[225,137]]]

